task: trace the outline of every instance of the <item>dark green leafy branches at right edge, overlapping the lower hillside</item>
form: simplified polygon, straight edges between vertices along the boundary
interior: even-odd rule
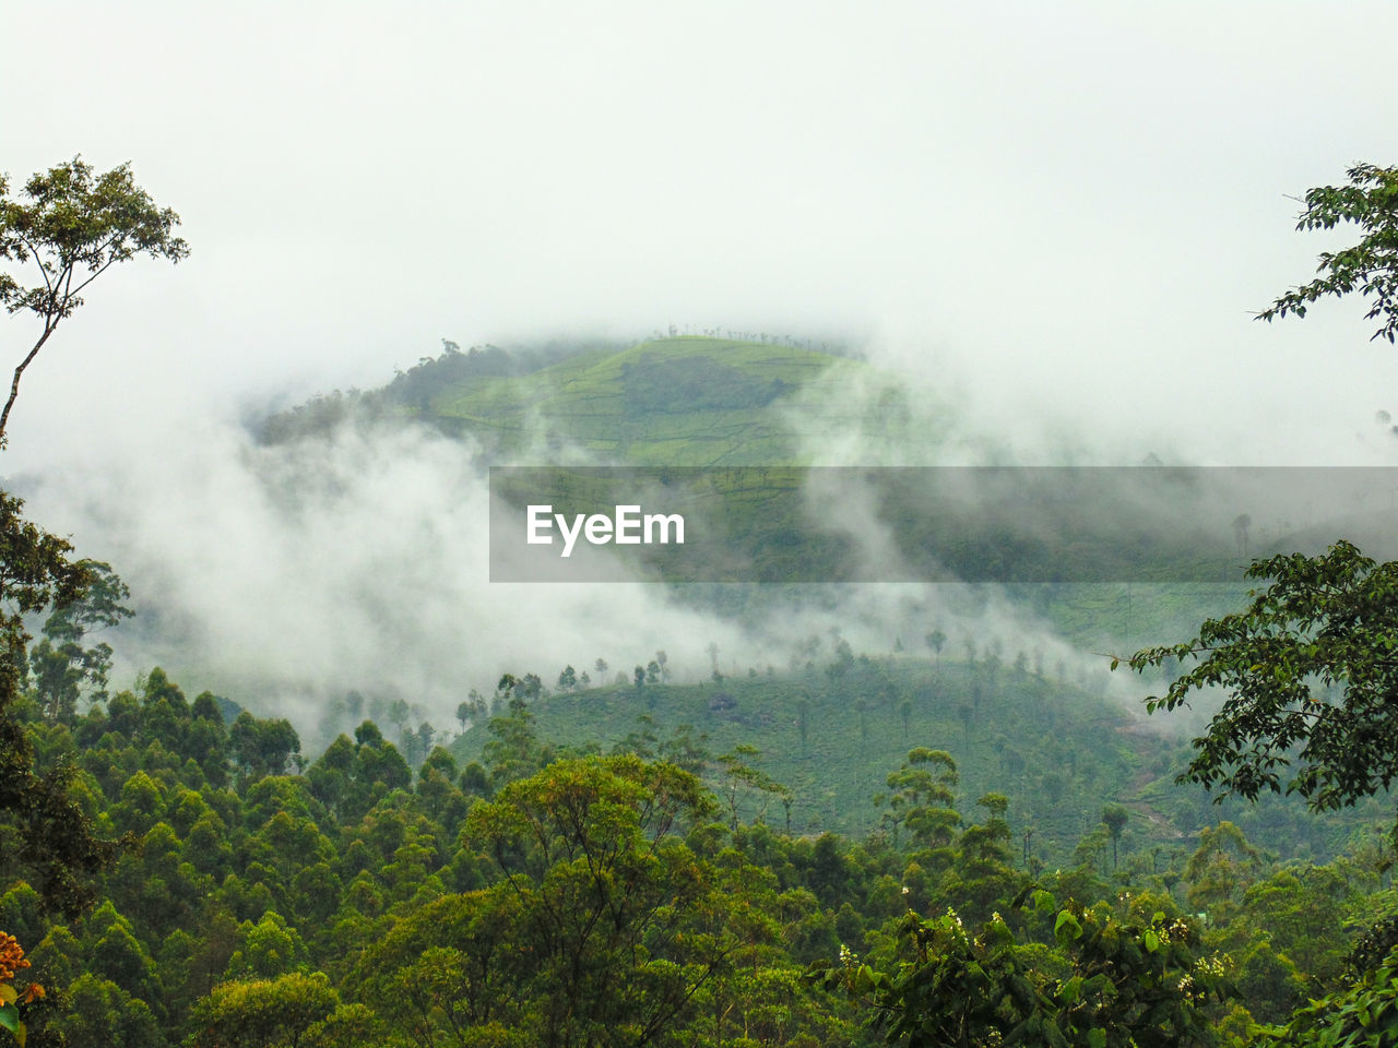
[[[1248,799],[1285,788],[1317,809],[1387,789],[1398,776],[1398,563],[1377,565],[1341,541],[1317,558],[1257,560],[1247,576],[1272,583],[1246,611],[1131,658],[1137,671],[1198,660],[1146,700],[1152,711],[1198,689],[1227,693],[1180,781]]]

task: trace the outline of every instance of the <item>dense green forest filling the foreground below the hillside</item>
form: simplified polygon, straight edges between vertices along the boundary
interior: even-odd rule
[[[477,760],[414,767],[373,721],[303,755],[159,669],[103,696],[99,609],[77,612],[8,715],[117,854],[64,918],[7,830],[31,1044],[875,1044],[913,1016],[941,1030],[914,1042],[970,1044],[951,1031],[1007,1013],[1068,1042],[1246,1044],[1367,971],[1391,907],[1385,837],[1278,861],[1225,820],[1148,847],[1117,803],[1050,869],[1005,794],[924,746],[870,831],[794,833],[754,748],[644,715],[569,746],[531,674],[470,711]]]

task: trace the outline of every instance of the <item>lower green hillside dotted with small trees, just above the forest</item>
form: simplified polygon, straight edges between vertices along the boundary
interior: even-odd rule
[[[790,812],[776,794],[744,789],[741,815],[779,829],[790,819],[795,834],[878,829],[886,808],[875,798],[888,792],[889,773],[916,746],[945,750],[959,769],[963,819],[980,817],[983,795],[1004,794],[1018,847],[1030,830],[1032,855],[1050,868],[1074,864],[1076,845],[1113,802],[1131,812],[1124,852],[1192,848],[1199,829],[1232,819],[1288,858],[1329,855],[1387,817],[1377,802],[1325,817],[1271,798],[1213,805],[1202,789],[1173,781],[1190,750],[1183,736],[1162,732],[1177,724],[1142,722],[1102,694],[1100,678],[1062,681],[1058,672],[1019,655],[974,662],[846,655],[794,674],[754,668],[699,685],[561,690],[527,710],[537,736],[566,750],[665,756],[677,738],[702,741],[705,777],[720,795],[726,777],[717,759],[752,746],[748,763],[790,789]],[[456,738],[453,756],[460,764],[481,760],[491,738],[487,727],[474,727]]]

